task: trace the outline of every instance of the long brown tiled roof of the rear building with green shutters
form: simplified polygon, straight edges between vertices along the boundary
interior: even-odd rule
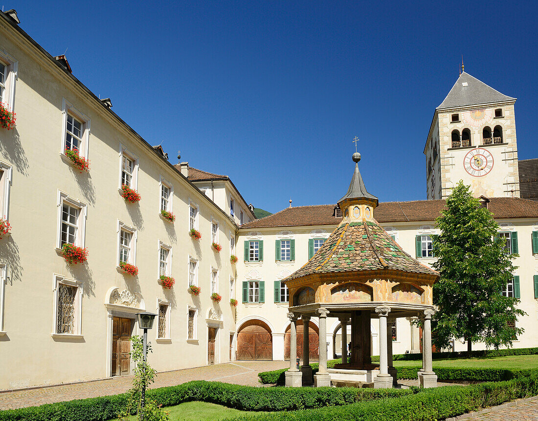
[[[490,198],[488,209],[497,219],[538,217],[538,202],[520,198]],[[414,200],[408,202],[381,202],[374,211],[378,222],[435,221],[441,216],[444,200]],[[334,217],[335,205],[295,206],[258,219],[241,228],[301,227],[314,225],[335,226],[342,221]]]

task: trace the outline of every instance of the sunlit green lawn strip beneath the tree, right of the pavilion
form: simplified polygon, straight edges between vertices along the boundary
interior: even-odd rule
[[[394,367],[421,367],[422,360],[415,361],[394,361]],[[512,355],[510,357],[496,358],[445,358],[433,360],[435,367],[450,368],[508,368],[508,369],[528,369],[538,368],[538,355]]]

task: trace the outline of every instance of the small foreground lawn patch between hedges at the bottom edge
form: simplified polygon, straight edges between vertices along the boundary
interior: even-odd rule
[[[170,412],[170,421],[220,421],[221,419],[237,417],[249,413],[238,409],[226,408],[222,405],[207,402],[185,402],[175,407],[163,408]],[[266,412],[256,412],[266,413]],[[129,417],[136,421],[136,416]]]

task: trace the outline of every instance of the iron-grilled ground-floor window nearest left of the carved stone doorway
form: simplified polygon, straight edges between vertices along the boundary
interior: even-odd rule
[[[80,335],[82,285],[61,275],[54,275],[55,335]]]

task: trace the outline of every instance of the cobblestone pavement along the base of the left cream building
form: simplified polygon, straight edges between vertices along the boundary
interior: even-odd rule
[[[261,386],[258,373],[286,368],[286,361],[234,361],[227,364],[187,368],[158,373],[151,388],[175,386],[191,380],[211,380],[225,383]],[[6,391],[0,393],[0,410],[33,407],[44,403],[70,401],[95,396],[116,395],[129,390],[133,376],[116,376],[110,379],[63,384],[37,389]]]

